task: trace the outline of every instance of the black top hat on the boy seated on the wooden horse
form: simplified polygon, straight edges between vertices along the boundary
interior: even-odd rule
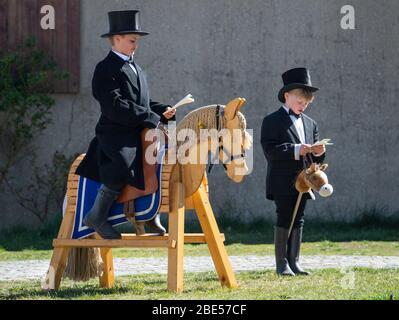
[[[108,38],[117,34],[138,34],[146,36],[149,33],[141,31],[140,11],[125,10],[108,12],[109,32],[103,34],[102,38]]]

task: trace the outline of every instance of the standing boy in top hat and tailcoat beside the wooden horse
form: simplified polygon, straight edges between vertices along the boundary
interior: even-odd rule
[[[308,275],[299,265],[308,196],[304,195],[291,235],[288,233],[299,194],[295,189],[296,178],[311,162],[321,163],[325,158],[325,146],[312,148],[319,141],[317,123],[304,114],[319,89],[312,85],[309,71],[305,68],[289,70],[282,78],[284,87],[278,95],[282,106],[265,117],[262,125],[261,143],[268,163],[266,197],[276,205],[277,274]]]

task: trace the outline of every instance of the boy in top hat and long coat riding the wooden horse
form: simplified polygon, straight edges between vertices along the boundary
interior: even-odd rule
[[[101,116],[76,173],[102,184],[85,225],[104,239],[120,239],[107,221],[108,213],[125,185],[145,189],[141,132],[174,120],[175,110],[150,100],[146,76],[133,59],[140,38],[148,35],[141,30],[140,12],[113,11],[108,17],[110,31],[102,37],[109,38],[112,50],[97,64],[92,81]],[[159,215],[149,224],[165,232]]]

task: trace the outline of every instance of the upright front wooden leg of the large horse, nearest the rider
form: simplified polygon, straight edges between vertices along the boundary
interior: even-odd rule
[[[168,291],[181,293],[184,277],[184,186],[172,185],[169,213]]]

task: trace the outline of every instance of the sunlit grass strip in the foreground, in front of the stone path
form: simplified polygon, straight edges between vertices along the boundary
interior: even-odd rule
[[[0,299],[14,300],[389,300],[399,296],[399,270],[355,268],[348,273],[327,269],[310,277],[281,278],[273,271],[237,273],[239,288],[222,289],[215,273],[185,275],[181,295],[166,291],[166,275],[118,277],[114,289],[98,281],[63,281],[61,290],[45,293],[39,281],[0,282]]]

